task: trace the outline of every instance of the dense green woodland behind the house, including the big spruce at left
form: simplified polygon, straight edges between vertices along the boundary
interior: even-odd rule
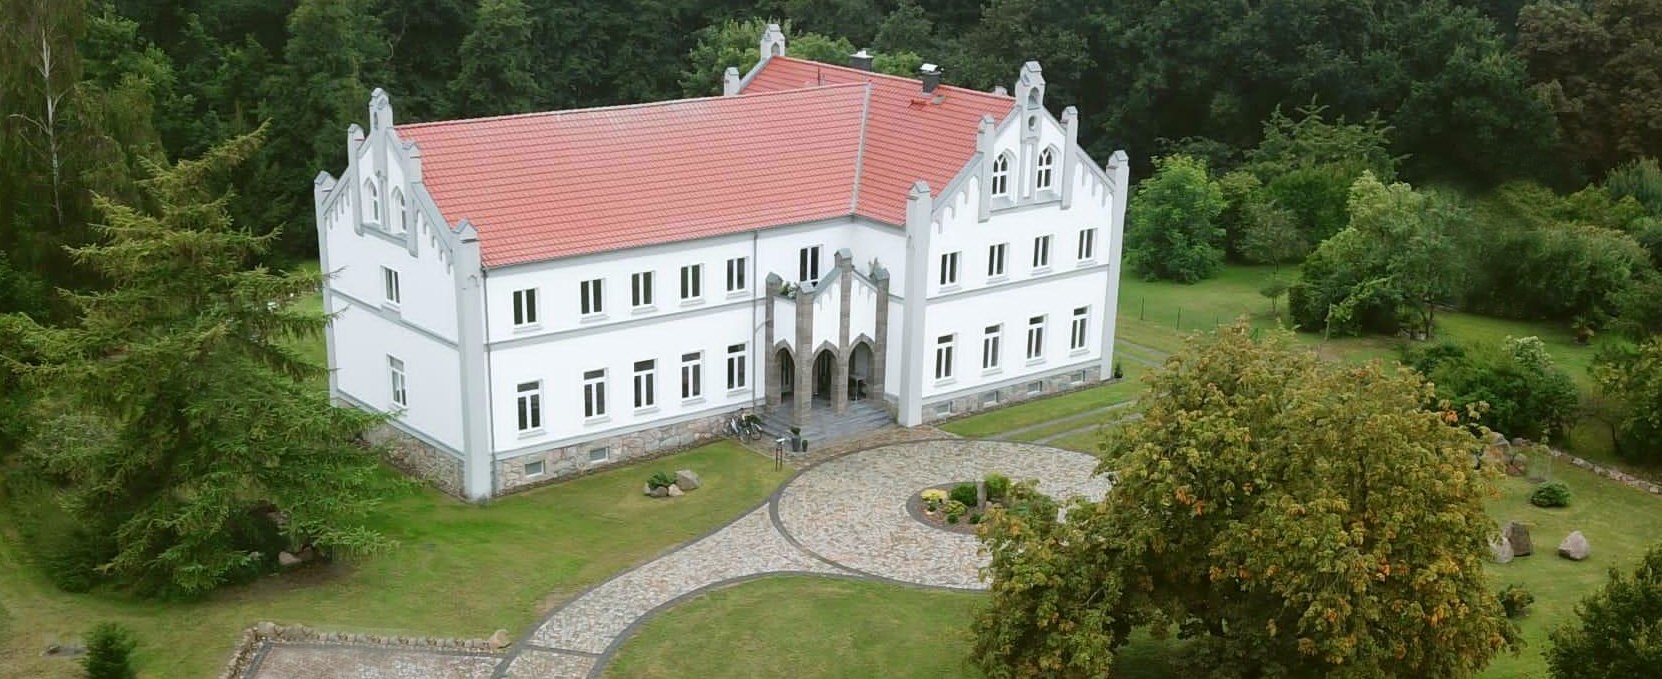
[[[316,254],[311,181],[372,88],[401,121],[706,96],[768,18],[793,55],[979,90],[1040,61],[1094,156],[1133,158],[1143,276],[1285,264],[1265,294],[1311,332],[1434,335],[1458,305],[1624,337],[1599,403],[1662,458],[1662,0],[18,0],[0,462],[68,498],[40,518],[75,538],[61,584],[198,594],[271,541],[376,548],[349,521],[372,457],[342,445],[367,420],[319,415],[286,344],[322,324],[286,305],[316,287],[286,272]],[[1536,354],[1411,362],[1439,397],[1542,393],[1502,413],[1551,435],[1576,393]]]

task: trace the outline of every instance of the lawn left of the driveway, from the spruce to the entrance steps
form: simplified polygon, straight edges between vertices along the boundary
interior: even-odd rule
[[[642,496],[642,480],[660,468],[696,470],[703,488],[675,501]],[[788,473],[721,442],[489,506],[411,488],[372,520],[397,540],[394,551],[266,578],[201,603],[60,593],[25,561],[0,515],[0,601],[13,631],[0,639],[0,667],[7,676],[76,676],[73,662],[40,651],[100,621],[138,631],[145,677],[213,676],[241,631],[261,619],[411,636],[519,634],[555,603],[758,505]]]

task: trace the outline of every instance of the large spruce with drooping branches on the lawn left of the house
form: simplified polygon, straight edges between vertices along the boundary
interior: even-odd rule
[[[156,166],[143,206],[96,201],[103,239],[73,256],[111,287],[70,297],[78,324],[0,319],[38,357],[23,375],[105,425],[90,438],[40,427],[60,440],[33,448],[66,510],[113,536],[103,569],[138,591],[199,594],[302,541],[384,545],[359,523],[384,478],[356,443],[376,418],[331,407],[304,382],[322,369],[289,344],[327,322],[294,304],[319,276],[248,269],[278,236],[233,224],[214,189],[259,141]],[[286,543],[253,538],[276,530]]]

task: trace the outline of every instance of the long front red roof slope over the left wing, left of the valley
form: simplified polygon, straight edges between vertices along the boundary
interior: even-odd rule
[[[397,126],[487,267],[849,212],[861,85]]]

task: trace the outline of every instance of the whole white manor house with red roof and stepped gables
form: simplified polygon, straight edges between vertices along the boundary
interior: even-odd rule
[[[786,56],[723,96],[396,125],[314,196],[329,392],[485,500],[721,435],[901,425],[1112,375],[1128,183],[1079,113]]]

